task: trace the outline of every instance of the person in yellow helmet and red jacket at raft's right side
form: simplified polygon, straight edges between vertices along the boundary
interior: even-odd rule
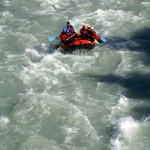
[[[87,26],[86,30],[87,38],[89,38],[92,41],[97,40],[97,42],[102,43],[100,36],[93,30],[93,28],[90,25]]]

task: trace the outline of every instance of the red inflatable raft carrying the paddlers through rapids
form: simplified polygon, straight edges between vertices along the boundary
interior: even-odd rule
[[[88,49],[91,50],[95,47],[95,42],[89,39],[74,38],[73,41],[70,41],[66,44],[60,46],[66,51],[72,51],[74,49]]]

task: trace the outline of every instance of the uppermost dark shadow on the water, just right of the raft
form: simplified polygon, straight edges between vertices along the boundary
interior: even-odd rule
[[[130,33],[129,38],[107,38],[107,46],[123,51],[137,51],[150,54],[150,28],[143,28]]]

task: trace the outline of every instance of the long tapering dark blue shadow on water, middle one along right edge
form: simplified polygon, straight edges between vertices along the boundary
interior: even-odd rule
[[[148,74],[133,72],[126,76],[106,74],[88,75],[88,77],[94,78],[97,82],[118,84],[126,88],[127,91],[124,93],[126,97],[146,100],[150,98],[150,76]]]

